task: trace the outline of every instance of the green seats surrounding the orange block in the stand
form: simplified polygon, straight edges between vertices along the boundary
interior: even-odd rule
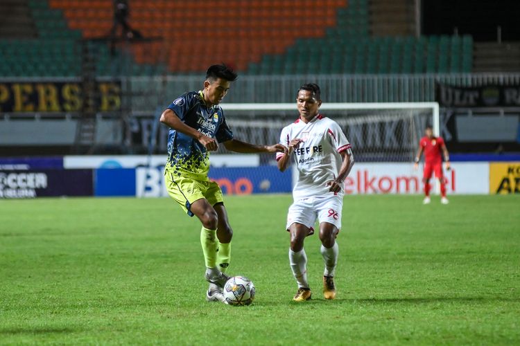
[[[0,76],[80,75],[78,40],[84,33],[69,29],[65,17],[70,18],[69,10],[51,8],[46,0],[28,0],[27,5],[39,39],[0,40]],[[337,9],[336,26],[324,28],[323,37],[297,38],[284,54],[263,55],[259,62],[249,63],[245,73],[458,73],[472,69],[473,41],[467,35],[374,38],[369,27],[368,0],[349,0],[347,7]],[[119,71],[107,44],[95,45],[98,74]],[[131,64],[136,75],[159,71],[158,66],[137,64],[133,58]]]

